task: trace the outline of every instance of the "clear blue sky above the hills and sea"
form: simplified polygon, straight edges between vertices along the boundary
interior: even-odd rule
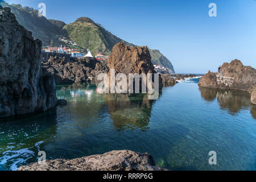
[[[127,42],[159,49],[177,73],[216,71],[240,59],[256,68],[255,0],[6,0],[35,9],[46,3],[47,18],[71,23],[88,16]],[[209,17],[216,3],[217,17]]]

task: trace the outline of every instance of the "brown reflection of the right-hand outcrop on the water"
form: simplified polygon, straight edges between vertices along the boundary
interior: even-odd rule
[[[231,113],[238,113],[241,109],[250,106],[250,94],[238,90],[220,90],[199,88],[201,96],[207,101],[217,98],[222,109],[228,109]]]

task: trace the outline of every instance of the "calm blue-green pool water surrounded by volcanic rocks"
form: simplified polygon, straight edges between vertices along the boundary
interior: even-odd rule
[[[244,92],[199,89],[198,79],[147,95],[97,94],[95,85],[59,86],[67,106],[0,121],[0,170],[38,160],[111,150],[149,152],[174,170],[256,170],[256,108]],[[217,152],[217,165],[208,163]]]

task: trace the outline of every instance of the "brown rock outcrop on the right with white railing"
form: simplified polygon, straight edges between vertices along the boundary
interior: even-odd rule
[[[224,63],[220,73],[209,72],[200,78],[199,86],[253,92],[256,85],[256,69],[244,66],[240,60]]]

